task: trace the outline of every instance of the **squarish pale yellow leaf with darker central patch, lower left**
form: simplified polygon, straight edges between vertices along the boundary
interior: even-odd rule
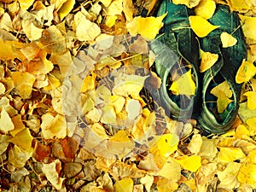
[[[49,113],[42,115],[42,135],[45,139],[64,138],[67,136],[67,123],[64,116],[55,117]]]

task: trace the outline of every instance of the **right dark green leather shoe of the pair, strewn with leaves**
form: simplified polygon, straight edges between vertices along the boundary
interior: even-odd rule
[[[202,108],[198,121],[205,131],[222,134],[230,130],[236,119],[241,84],[236,84],[235,78],[241,61],[247,57],[247,48],[240,20],[235,12],[230,13],[230,9],[227,6],[218,5],[216,12],[209,21],[212,25],[220,27],[210,32],[206,38],[201,38],[201,49],[218,54],[218,61],[204,73]],[[223,48],[220,39],[222,32],[232,34],[237,39],[236,45]],[[224,82],[224,80],[230,85],[230,90],[232,91],[230,99],[233,102],[230,102],[224,113],[218,113],[217,97],[213,96],[210,91],[213,87]]]

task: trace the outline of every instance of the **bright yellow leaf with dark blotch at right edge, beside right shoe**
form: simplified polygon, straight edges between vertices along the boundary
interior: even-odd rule
[[[253,62],[243,60],[236,73],[236,83],[241,84],[247,82],[252,79],[255,74],[256,67],[253,65]]]

